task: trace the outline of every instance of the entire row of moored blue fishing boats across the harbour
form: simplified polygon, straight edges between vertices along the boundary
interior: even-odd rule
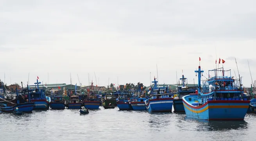
[[[204,120],[243,120],[247,112],[256,111],[256,100],[243,91],[242,79],[234,79],[230,70],[216,68],[209,70],[206,80],[201,80],[201,66],[195,71],[198,77],[197,86],[187,86],[182,75],[182,84],[174,93],[167,86],[159,87],[154,78],[153,87],[134,95],[129,91],[116,91],[114,94],[93,93],[88,95],[75,93],[63,95],[45,95],[45,88],[39,89],[40,82],[35,83],[36,89],[16,89],[16,98],[7,100],[0,97],[0,111],[32,112],[40,109],[80,109],[81,114],[89,110],[104,109],[134,110],[148,112],[185,112],[187,117]],[[221,73],[218,76],[218,72]],[[229,75],[227,75],[229,74]],[[93,83],[92,83],[93,86]],[[174,107],[174,109],[172,109]]]

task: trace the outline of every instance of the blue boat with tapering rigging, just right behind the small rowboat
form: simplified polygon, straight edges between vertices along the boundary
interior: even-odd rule
[[[94,90],[93,82],[91,82],[91,87],[88,91],[88,96],[84,100],[84,107],[87,109],[99,109],[100,104],[101,104],[101,100],[100,98],[97,97]]]

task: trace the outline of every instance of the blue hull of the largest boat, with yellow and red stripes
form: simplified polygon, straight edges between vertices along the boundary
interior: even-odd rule
[[[249,107],[249,100],[212,100],[203,105],[194,106],[186,101],[197,95],[183,96],[183,105],[188,118],[203,120],[243,120]]]

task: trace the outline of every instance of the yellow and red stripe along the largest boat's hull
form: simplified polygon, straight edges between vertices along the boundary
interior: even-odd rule
[[[184,107],[186,107],[186,109],[188,109],[189,111],[191,112],[195,112],[195,113],[201,113],[201,112],[204,112],[206,110],[208,110],[209,108],[210,109],[214,109],[214,108],[249,108],[249,105],[209,105],[209,106],[206,106],[204,109],[202,110],[193,110],[193,109],[190,109],[186,104],[183,104]]]

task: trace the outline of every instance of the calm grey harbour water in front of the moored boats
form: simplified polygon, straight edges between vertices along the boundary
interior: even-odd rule
[[[104,109],[0,113],[0,141],[255,141],[256,114],[244,121],[199,121],[185,114]],[[75,113],[77,112],[77,113]]]

